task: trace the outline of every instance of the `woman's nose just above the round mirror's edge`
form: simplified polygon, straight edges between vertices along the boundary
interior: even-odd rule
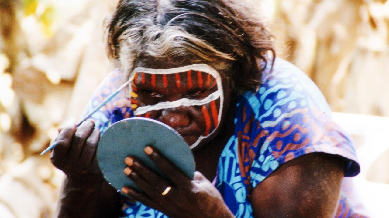
[[[163,109],[159,121],[166,125],[176,128],[189,126],[191,123],[191,117],[189,112],[182,107]]]

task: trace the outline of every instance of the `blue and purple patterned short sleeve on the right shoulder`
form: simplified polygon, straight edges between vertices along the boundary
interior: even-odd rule
[[[350,137],[331,119],[326,100],[316,85],[289,62],[277,59],[263,77],[258,92],[249,92],[238,107],[239,148],[243,169],[252,187],[280,164],[312,152],[335,154],[347,160],[345,176],[359,173]]]

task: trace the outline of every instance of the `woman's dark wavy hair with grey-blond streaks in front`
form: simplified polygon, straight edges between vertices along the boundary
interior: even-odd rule
[[[120,0],[107,29],[108,55],[121,67],[138,57],[191,58],[231,72],[237,93],[258,88],[275,57],[264,24],[231,0]]]

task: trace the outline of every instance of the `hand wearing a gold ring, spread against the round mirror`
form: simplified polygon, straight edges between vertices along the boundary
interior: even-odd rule
[[[123,187],[128,196],[174,218],[234,217],[219,191],[200,172],[196,171],[195,178],[190,180],[152,147],[146,147],[145,153],[170,182],[137,159],[127,157],[124,162],[129,167],[124,173],[145,192]]]

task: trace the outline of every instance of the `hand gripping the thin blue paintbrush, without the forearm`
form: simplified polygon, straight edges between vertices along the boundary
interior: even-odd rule
[[[86,120],[76,129],[75,119],[70,119],[54,140],[51,162],[73,183],[86,185],[104,180],[95,155],[100,131],[94,126],[92,120]]]

